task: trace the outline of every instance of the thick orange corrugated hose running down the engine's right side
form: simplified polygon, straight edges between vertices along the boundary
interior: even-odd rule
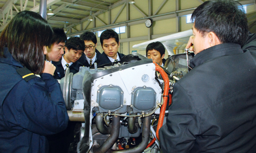
[[[169,95],[169,89],[170,88],[169,88],[169,78],[168,78],[167,74],[164,72],[164,70],[156,62],[153,61],[153,63],[155,63],[155,65],[156,65],[156,71],[158,71],[161,74],[161,76],[164,80],[163,105],[161,107],[159,120],[158,120],[158,125],[157,125],[157,132],[156,132],[157,139],[160,141],[160,139],[159,139],[159,129],[163,125],[163,119],[164,119],[164,114],[165,114],[167,100],[168,100],[167,96]]]

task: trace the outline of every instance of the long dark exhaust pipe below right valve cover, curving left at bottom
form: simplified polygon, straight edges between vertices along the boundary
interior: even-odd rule
[[[135,147],[131,147],[129,149],[122,149],[122,150],[109,150],[109,152],[125,152],[125,153],[132,153],[132,152],[143,152],[146,148],[148,141],[150,140],[150,121],[151,116],[145,117],[143,120],[143,127],[142,127],[142,141],[139,145]]]

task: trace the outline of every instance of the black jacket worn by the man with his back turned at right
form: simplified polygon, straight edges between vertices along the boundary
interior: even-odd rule
[[[159,136],[163,152],[255,152],[256,63],[240,45],[223,43],[190,60],[174,84]]]

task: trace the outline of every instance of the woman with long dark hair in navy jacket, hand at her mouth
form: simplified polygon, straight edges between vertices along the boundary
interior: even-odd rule
[[[45,136],[68,125],[55,67],[44,59],[52,34],[38,13],[22,11],[0,36],[0,152],[48,152]]]

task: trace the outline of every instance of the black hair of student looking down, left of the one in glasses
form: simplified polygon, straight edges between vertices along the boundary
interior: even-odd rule
[[[83,39],[79,37],[70,37],[65,45],[68,50],[82,50],[84,51],[86,49],[86,45],[84,45]]]

